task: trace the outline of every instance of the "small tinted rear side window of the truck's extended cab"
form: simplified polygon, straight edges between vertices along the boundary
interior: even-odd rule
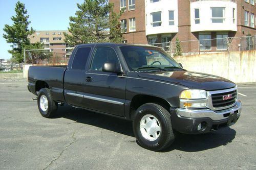
[[[86,63],[91,51],[91,47],[81,47],[78,48],[74,56],[72,63],[72,69],[86,69]]]

